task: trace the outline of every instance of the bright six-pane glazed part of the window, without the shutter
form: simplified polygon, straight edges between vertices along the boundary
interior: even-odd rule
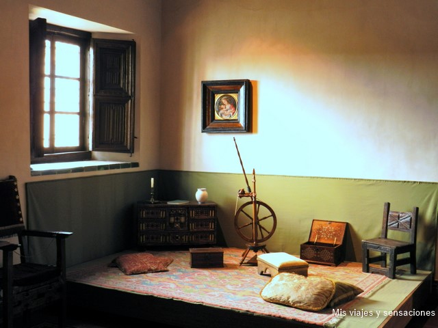
[[[44,154],[85,151],[89,33],[48,25],[44,55]]]

